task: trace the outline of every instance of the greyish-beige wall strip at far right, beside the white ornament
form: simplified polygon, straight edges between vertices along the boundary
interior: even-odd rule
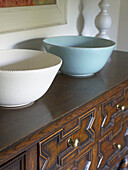
[[[121,0],[117,48],[128,51],[128,0]]]

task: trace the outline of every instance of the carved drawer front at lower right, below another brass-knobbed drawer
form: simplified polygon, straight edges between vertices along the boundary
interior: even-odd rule
[[[105,135],[98,142],[98,157],[99,163],[97,168],[99,169],[110,169],[115,165],[116,161],[120,157],[125,156],[128,152],[128,120],[120,122],[120,130],[118,133],[113,133],[111,131],[109,134]],[[118,135],[117,135],[118,134]],[[121,149],[113,148],[113,143],[120,144]]]

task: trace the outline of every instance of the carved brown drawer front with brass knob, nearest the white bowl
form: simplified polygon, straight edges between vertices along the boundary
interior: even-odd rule
[[[96,116],[95,108],[86,112],[82,116],[69,122],[58,131],[50,135],[48,138],[39,143],[39,167],[40,169],[62,169],[66,164],[75,161],[81,151],[86,146],[94,142],[95,132],[93,128]],[[78,147],[68,146],[69,138],[75,140],[78,138]],[[91,151],[85,153],[85,167],[90,166]],[[84,156],[76,159],[74,166],[79,166],[79,162],[85,159]]]

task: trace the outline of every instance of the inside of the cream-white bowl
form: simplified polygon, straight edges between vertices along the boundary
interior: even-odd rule
[[[19,71],[44,69],[58,65],[61,59],[53,54],[35,50],[1,50],[0,70]]]

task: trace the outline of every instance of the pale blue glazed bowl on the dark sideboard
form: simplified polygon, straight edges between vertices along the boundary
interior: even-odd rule
[[[92,76],[107,63],[115,42],[96,37],[59,36],[46,38],[47,52],[63,60],[61,72],[71,76]]]

